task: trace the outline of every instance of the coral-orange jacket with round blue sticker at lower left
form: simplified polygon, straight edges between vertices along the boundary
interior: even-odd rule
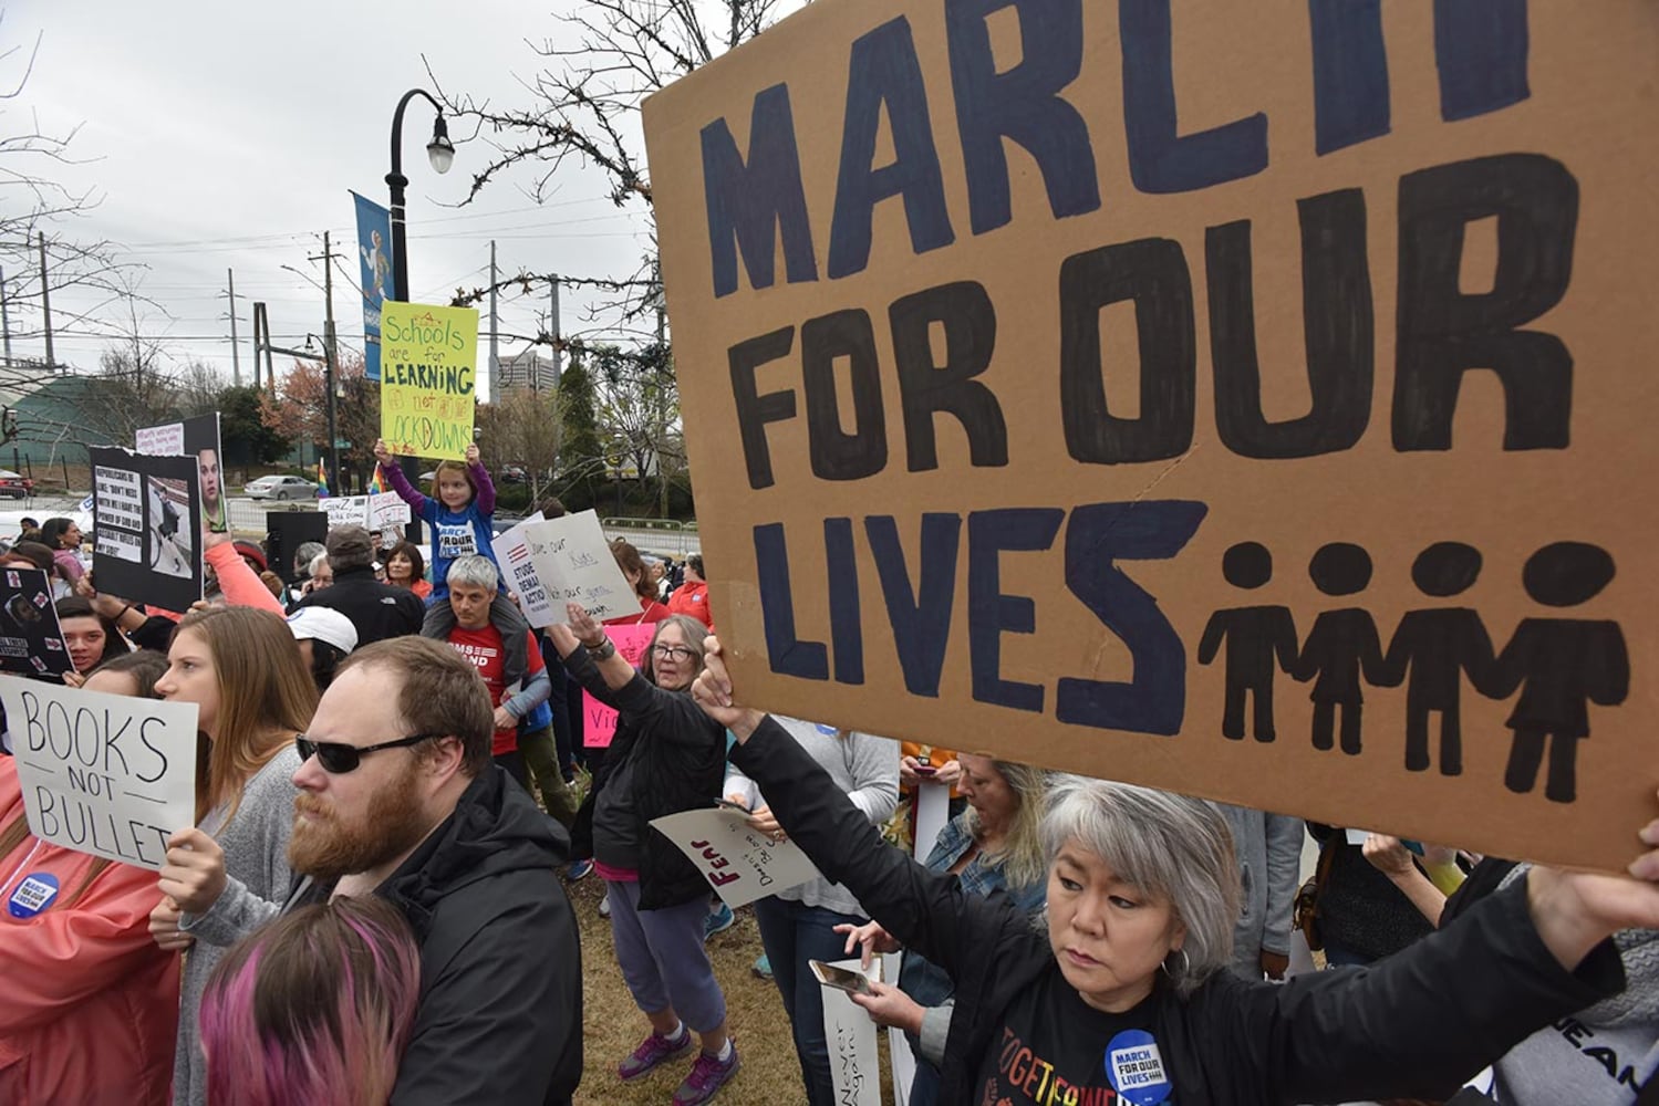
[[[22,814],[5,756],[0,826]],[[35,836],[0,857],[0,1103],[171,1099],[179,957],[149,939],[156,874],[111,864],[65,907],[95,862]]]

